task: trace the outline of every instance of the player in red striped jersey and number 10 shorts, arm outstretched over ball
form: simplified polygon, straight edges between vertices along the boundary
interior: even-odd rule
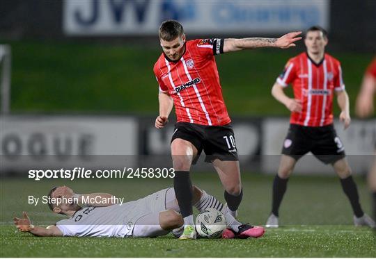
[[[278,39],[251,37],[244,39],[186,40],[182,25],[165,21],[159,27],[162,55],[154,65],[159,84],[159,116],[155,127],[163,128],[175,106],[178,122],[171,140],[175,169],[174,187],[185,228],[180,239],[195,239],[189,170],[201,151],[212,162],[224,185],[230,229],[225,237],[259,237],[264,228],[241,224],[233,216],[242,201],[242,183],[237,148],[230,117],[222,97],[215,55],[260,47],[288,48],[300,40],[300,32]]]

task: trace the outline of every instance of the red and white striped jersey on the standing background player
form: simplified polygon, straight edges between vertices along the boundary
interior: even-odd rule
[[[292,112],[291,124],[325,126],[333,123],[334,91],[345,90],[340,62],[325,53],[316,64],[304,52],[288,60],[283,73],[276,79],[283,87],[292,84],[295,99],[303,109]]]

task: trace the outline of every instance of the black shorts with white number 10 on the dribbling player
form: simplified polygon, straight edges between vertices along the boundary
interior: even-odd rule
[[[178,122],[171,142],[175,138],[187,140],[196,147],[198,153],[192,161],[195,164],[204,150],[205,162],[212,162],[214,159],[221,161],[237,161],[237,148],[233,127],[230,124],[225,126],[205,126],[188,122]]]

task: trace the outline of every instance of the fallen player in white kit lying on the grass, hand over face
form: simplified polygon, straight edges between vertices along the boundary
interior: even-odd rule
[[[207,208],[227,212],[224,204],[198,187],[193,187],[193,193],[192,203],[200,212]],[[184,227],[172,187],[122,204],[112,203],[116,199],[112,199],[111,194],[75,194],[66,186],[52,188],[48,196],[52,200],[65,197],[78,201],[78,203],[61,202],[59,204],[52,203],[52,201],[48,204],[53,212],[66,215],[69,219],[63,219],[55,225],[44,228],[33,226],[26,212],[23,212],[22,219],[13,218],[19,231],[40,237],[157,237],[173,231],[175,237],[179,237]],[[100,203],[82,204],[82,201],[100,201]],[[108,203],[103,201],[108,201]],[[236,222],[235,219],[234,222]],[[232,227],[232,223],[228,222],[229,228]],[[264,231],[262,227],[253,227],[249,236],[260,237]]]

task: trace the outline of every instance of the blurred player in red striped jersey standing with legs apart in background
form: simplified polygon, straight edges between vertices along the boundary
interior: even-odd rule
[[[279,226],[279,206],[288,178],[297,160],[311,151],[320,161],[334,167],[354,211],[354,224],[374,227],[375,222],[361,209],[357,185],[345,159],[345,149],[333,127],[334,94],[341,110],[339,119],[345,129],[350,126],[349,98],[340,62],[325,53],[327,31],[320,26],[308,28],[304,43],[306,52],[288,60],[272,89],[274,98],[291,111],[291,117],[273,183],[272,213],[266,226]],[[294,98],[283,92],[289,84],[292,84]]]

